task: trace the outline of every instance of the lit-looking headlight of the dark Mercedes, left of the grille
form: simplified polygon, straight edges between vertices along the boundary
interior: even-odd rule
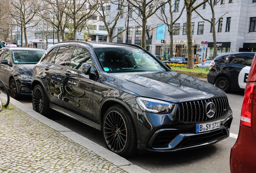
[[[142,111],[157,114],[171,113],[174,103],[159,101],[155,99],[136,97],[136,101]]]

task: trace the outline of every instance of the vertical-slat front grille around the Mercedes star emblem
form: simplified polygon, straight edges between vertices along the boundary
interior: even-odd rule
[[[211,118],[206,116],[204,105],[211,101],[215,104],[215,115]],[[207,99],[200,101],[182,102],[176,111],[176,118],[183,122],[202,122],[217,119],[227,114],[229,103],[227,97],[218,99]]]

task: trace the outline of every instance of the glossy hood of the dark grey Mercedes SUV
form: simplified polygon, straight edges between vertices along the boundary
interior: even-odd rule
[[[141,97],[179,103],[227,97],[214,85],[178,72],[107,74],[108,82],[128,89]]]

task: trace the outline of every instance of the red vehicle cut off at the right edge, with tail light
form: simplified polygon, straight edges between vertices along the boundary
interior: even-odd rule
[[[244,94],[241,121],[237,140],[231,148],[230,172],[254,173],[256,171],[256,55]]]

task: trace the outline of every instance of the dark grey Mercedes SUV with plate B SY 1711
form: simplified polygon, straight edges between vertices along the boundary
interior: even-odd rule
[[[107,148],[124,157],[217,143],[233,119],[221,89],[132,44],[56,43],[35,65],[32,88],[35,111],[54,109],[101,130]]]

